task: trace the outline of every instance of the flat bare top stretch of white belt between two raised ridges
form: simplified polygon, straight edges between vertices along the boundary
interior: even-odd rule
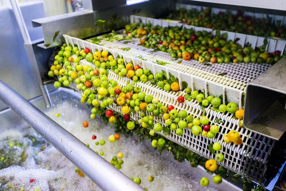
[[[117,35],[117,37],[120,39],[122,38],[122,35]],[[87,41],[92,42],[92,39],[89,39]],[[215,74],[225,73],[225,77],[229,79],[223,78],[223,81],[228,81],[228,86],[240,90],[245,90],[247,83],[259,76],[271,66],[267,63],[210,63],[208,65],[204,65],[200,64],[195,60],[168,59],[170,58],[170,54],[167,52],[154,52],[152,49],[138,46],[138,43],[136,42],[126,42],[128,42],[128,40],[114,42],[101,40],[100,45],[106,48],[110,48],[112,50],[116,50],[117,52],[126,56],[131,56],[135,58],[138,58],[140,56],[141,59],[148,60],[150,62],[156,62],[156,60],[160,60],[168,63],[168,68],[172,68],[192,75],[196,73],[196,75],[202,78],[205,78],[207,80],[211,79],[212,81],[215,81],[217,83],[220,83],[219,81],[222,78]],[[130,48],[130,50],[124,51],[124,48]],[[180,64],[178,64],[178,61],[180,61]]]

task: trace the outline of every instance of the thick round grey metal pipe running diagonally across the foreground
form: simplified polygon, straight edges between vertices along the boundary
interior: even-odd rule
[[[102,190],[144,190],[1,80],[0,99]]]

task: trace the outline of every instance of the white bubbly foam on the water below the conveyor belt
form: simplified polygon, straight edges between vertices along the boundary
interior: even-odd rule
[[[60,116],[56,117],[56,113],[60,113]],[[98,120],[90,119],[89,110],[85,111],[69,103],[63,103],[57,108],[49,109],[46,114],[82,142],[89,144],[94,151],[99,153],[103,151],[102,157],[107,161],[118,152],[122,152],[124,164],[120,171],[128,177],[139,177],[142,181],[140,186],[148,188],[149,191],[216,190],[212,186],[202,187],[200,179],[190,174],[190,165],[188,169],[182,167],[168,152],[158,154],[158,151],[150,147],[150,140],[138,143],[135,135],[129,138],[121,135],[119,140],[110,143],[108,137],[114,134],[114,129]],[[88,128],[82,126],[83,121],[88,121]],[[15,130],[8,134],[22,137],[21,133],[24,132],[20,134],[19,132]],[[96,135],[97,138],[93,140],[92,135]],[[95,142],[100,140],[105,140],[106,144],[95,145]],[[35,149],[30,147],[27,151],[33,153]],[[169,156],[166,157],[167,155]],[[75,166],[52,146],[47,146],[35,157],[28,157],[23,166],[11,166],[0,170],[0,179],[8,180],[13,188],[23,187],[25,190],[34,190],[36,187],[45,191],[101,190],[88,177],[81,177],[75,172]],[[153,182],[148,181],[149,175],[154,176]],[[31,178],[35,181],[29,182]]]

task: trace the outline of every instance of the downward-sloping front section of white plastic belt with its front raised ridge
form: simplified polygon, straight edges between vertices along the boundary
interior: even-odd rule
[[[153,72],[153,74],[156,73],[154,72],[155,70],[157,72],[160,72],[161,69],[165,71],[169,71],[174,76],[177,76],[177,77],[179,77],[178,74],[184,74],[184,73],[181,73],[181,71],[179,70],[180,67],[178,68],[178,70],[174,70],[174,69],[170,70],[168,67],[171,66],[171,64],[166,64],[165,66],[161,66],[161,65],[148,62],[148,61],[144,61],[144,60],[141,60],[135,57],[129,57],[129,56],[126,56],[125,54],[120,54],[119,52],[115,51],[115,50],[118,50],[115,48],[113,49],[106,48],[104,46],[96,45],[96,44],[93,44],[93,43],[90,43],[90,42],[87,42],[81,39],[73,38],[70,36],[66,36],[66,35],[64,37],[65,37],[67,44],[71,44],[72,46],[76,44],[79,47],[79,49],[88,47],[92,50],[92,52],[95,52],[96,49],[99,51],[107,50],[108,52],[111,52],[115,58],[117,57],[117,55],[119,55],[120,57],[124,58],[126,63],[132,60],[134,65],[139,64],[143,66],[144,69],[148,68],[150,69],[151,72]],[[76,55],[73,55],[73,56],[76,57]],[[156,57],[154,58],[156,59]],[[83,66],[85,65],[94,66],[93,63],[87,62],[85,59],[80,60],[80,64],[82,64]],[[72,66],[74,66],[73,62],[72,62]],[[195,69],[195,70],[198,70],[198,69]],[[175,72],[177,72],[177,75],[175,74]],[[198,72],[204,72],[204,71],[198,70]],[[212,75],[216,76],[215,74],[212,74]],[[221,80],[226,80],[226,81],[229,80],[229,78],[225,78],[225,77],[222,78],[222,76],[219,76],[219,78],[221,78]],[[127,77],[119,77],[112,70],[109,70],[108,72],[108,79],[116,80],[119,86],[125,86],[130,81],[130,79]],[[212,85],[214,85],[214,88],[221,88],[222,90],[226,90],[226,88],[229,88],[228,90],[232,91],[231,92],[232,96],[229,96],[230,94],[228,94],[227,96],[228,99],[234,100],[235,98],[235,100],[240,100],[239,103],[241,105],[241,99],[242,99],[241,95],[243,93],[242,90],[237,90],[235,88],[230,88],[229,86],[212,83],[212,81],[209,81],[207,79],[200,78],[197,76],[192,76],[190,74],[188,74],[188,76],[186,76],[186,79],[184,80],[188,81],[188,84],[194,84],[192,86],[193,90],[195,88],[196,89],[205,88],[206,90],[208,90],[208,89],[211,89],[211,87],[208,87],[208,88],[206,87],[212,86]],[[179,81],[180,81],[180,78],[179,78]],[[77,84],[75,82],[71,82],[69,86],[76,91],[83,92],[82,90],[77,89],[76,85]],[[176,101],[176,97],[178,97],[179,95],[183,95],[185,93],[184,91],[166,92],[158,88],[158,86],[152,85],[150,82],[148,83],[137,82],[136,86],[139,86],[142,91],[146,92],[146,94],[150,94],[158,98],[159,101],[162,102],[163,105],[165,106],[168,106],[171,104],[177,110],[181,110],[181,109],[186,110],[188,114],[192,114],[194,117],[199,117],[202,114],[202,110],[197,101],[195,100],[188,101],[184,105]],[[227,93],[225,91],[225,94]],[[212,94],[212,93],[209,93],[206,91],[206,94]],[[220,92],[218,94],[220,94]],[[214,95],[216,96],[217,94],[214,94]],[[110,105],[110,109],[121,113],[120,107],[116,107],[115,103]],[[163,133],[160,133],[160,134],[207,158],[215,157],[215,155],[212,154],[208,150],[208,145],[210,143],[219,142],[222,145],[221,152],[225,154],[225,160],[223,162],[220,162],[219,163],[220,165],[236,173],[239,173],[243,176],[251,178],[252,180],[255,180],[256,182],[264,184],[265,171],[267,170],[268,155],[270,154],[270,151],[275,141],[273,139],[264,137],[262,135],[258,135],[257,133],[254,133],[247,129],[239,128],[238,127],[239,120],[233,119],[233,114],[230,114],[230,113],[224,114],[224,113],[216,112],[210,109],[210,106],[208,106],[206,108],[206,116],[210,120],[210,125],[216,124],[220,127],[220,132],[214,139],[208,139],[207,137],[203,137],[203,136],[194,136],[191,134],[190,129],[184,129],[184,133],[182,136],[178,136],[174,131],[171,131],[169,135],[164,135]],[[138,113],[131,114],[131,117],[135,121],[138,121],[138,119],[140,119],[140,116],[138,115]],[[216,118],[219,118],[225,121],[225,123],[223,124],[215,123],[214,121]],[[164,119],[162,118],[159,119],[158,117],[154,117],[154,123],[156,122],[159,122],[162,125],[164,125]],[[223,141],[223,135],[229,132],[230,130],[236,130],[241,134],[241,137],[243,139],[243,143],[241,145],[228,144]]]

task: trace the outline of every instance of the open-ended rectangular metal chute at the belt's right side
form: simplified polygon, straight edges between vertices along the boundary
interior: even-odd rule
[[[269,68],[247,85],[243,125],[279,140],[286,131],[286,59]]]

